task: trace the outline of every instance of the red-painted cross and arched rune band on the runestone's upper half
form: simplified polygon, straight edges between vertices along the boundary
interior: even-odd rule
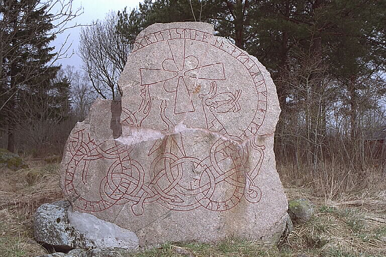
[[[196,44],[196,48],[193,49],[197,51],[192,51],[192,47],[188,49],[187,46],[192,44]],[[207,57],[200,59],[197,53],[205,47],[220,52],[217,53],[216,60],[203,65]],[[170,105],[173,106],[174,115],[197,112],[198,108],[201,108],[204,110],[206,128],[213,132],[232,135],[242,140],[256,135],[265,118],[267,88],[258,65],[249,55],[229,41],[195,29],[167,29],[137,38],[132,52],[145,51],[147,48],[156,48],[159,51],[162,49],[169,57],[155,62],[154,65],[157,67],[139,68],[141,83],[138,91],[142,102],[137,110],[125,109],[121,116],[122,124],[138,127],[142,125],[153,106],[149,87],[157,86],[173,94],[173,102]],[[227,75],[229,71],[227,72],[225,65],[241,67],[240,74],[249,76],[250,84],[239,85],[239,81]],[[233,84],[231,79],[234,81]],[[202,84],[206,85],[208,91],[199,90],[200,94],[193,95],[192,92]],[[247,92],[245,87],[254,88],[254,93]],[[221,88],[233,90],[225,91]],[[197,102],[198,99],[201,99],[201,104]],[[243,106],[240,102],[253,104]],[[201,106],[197,106],[198,104]],[[237,114],[251,109],[253,113],[248,114],[250,122],[245,125],[242,132],[230,134],[222,121],[225,117],[223,114],[227,113],[228,120],[236,119],[239,116]],[[232,116],[228,112],[237,113]]]

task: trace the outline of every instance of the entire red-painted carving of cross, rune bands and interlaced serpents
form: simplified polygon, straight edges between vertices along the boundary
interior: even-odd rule
[[[208,63],[205,58],[200,59],[203,57],[190,53],[193,47],[190,47],[190,52],[187,48],[187,44],[197,41],[222,50],[221,52],[232,57],[231,60],[236,64],[241,64],[240,67],[244,69],[242,72],[250,76],[251,84],[228,85],[231,78],[227,75],[224,62],[229,62],[229,59],[222,58],[222,55],[212,63]],[[254,139],[241,148],[237,143],[254,136],[265,117],[266,87],[257,65],[229,42],[219,41],[218,38],[197,30],[169,29],[146,35],[136,40],[133,52],[145,51],[147,47],[155,47],[160,42],[168,58],[154,62],[155,67],[139,68],[138,91],[142,99],[141,104],[136,110],[122,106],[121,124],[129,127],[142,126],[151,109],[156,107],[150,95],[150,87],[156,87],[156,90],[173,94],[172,101],[165,99],[159,104],[160,121],[166,127],[163,132],[172,132],[176,125],[171,121],[170,115],[201,110],[202,118],[205,118],[205,129],[224,135],[229,140],[216,140],[208,149],[207,157],[197,158],[185,150],[181,135],[166,136],[156,140],[149,149],[150,165],[146,165],[132,157],[135,146],[115,142],[114,147],[105,149],[105,142],[96,142],[80,130],[72,134],[66,150],[71,156],[66,163],[66,192],[78,195],[77,206],[82,210],[96,212],[113,205],[131,204],[134,215],[142,215],[144,205],[153,202],[176,211],[197,208],[226,211],[236,206],[243,198],[250,203],[258,202],[261,191],[255,179],[264,159],[265,147],[257,145]],[[193,94],[192,91],[198,84],[207,85],[207,91]],[[255,90],[255,111],[249,117],[250,123],[240,134],[232,135],[221,115],[234,113],[229,114],[234,115],[230,117],[237,118],[239,113],[253,107],[240,104],[243,97],[253,97],[245,93],[245,88],[248,87]],[[224,91],[220,88],[232,90]],[[173,106],[173,113],[166,112],[169,104]],[[251,165],[248,151],[257,151],[259,154],[259,159],[252,162],[252,168],[248,166]],[[80,172],[81,183],[85,185],[87,174],[90,172],[90,162],[95,160],[106,160],[111,166],[100,181],[99,200],[91,201],[77,192],[73,176]],[[188,175],[190,182],[184,182],[182,185],[181,181],[185,181],[183,178],[187,176],[188,171],[194,171],[194,176]],[[232,193],[224,199],[216,199],[214,195],[219,187],[228,188]]]

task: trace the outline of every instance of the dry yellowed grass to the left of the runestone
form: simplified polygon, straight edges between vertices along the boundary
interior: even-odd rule
[[[33,164],[30,165],[34,166]],[[43,203],[62,197],[58,164],[12,171],[0,170],[0,256],[46,253],[33,239],[33,214]]]

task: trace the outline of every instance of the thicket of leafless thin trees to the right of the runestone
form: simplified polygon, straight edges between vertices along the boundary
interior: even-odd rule
[[[383,78],[358,77],[352,81],[357,94],[352,97],[342,85],[347,81],[329,72],[323,49],[290,53],[276,81],[289,88],[275,142],[279,169],[328,188],[331,195],[355,186],[367,170],[384,169],[385,134],[379,133],[386,128]]]

